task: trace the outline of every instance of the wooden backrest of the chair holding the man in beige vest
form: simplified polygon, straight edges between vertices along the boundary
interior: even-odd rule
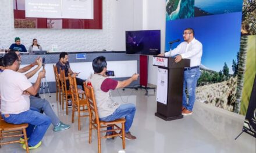
[[[92,86],[88,86],[86,82],[84,82],[84,90],[86,92],[86,99],[88,101],[88,111],[92,122],[95,121],[97,125],[99,125],[99,116],[97,103],[94,96],[94,90]]]

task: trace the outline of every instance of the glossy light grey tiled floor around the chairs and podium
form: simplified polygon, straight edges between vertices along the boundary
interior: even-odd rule
[[[219,108],[195,103],[194,114],[175,121],[163,121],[154,115],[156,98],[152,90],[144,96],[144,90],[119,90],[113,92],[113,99],[123,103],[136,104],[137,111],[130,131],[137,140],[126,140],[126,153],[162,153],[162,152],[252,152],[255,149],[255,138],[243,133],[239,139],[234,138],[243,128],[244,116],[233,114]],[[81,130],[77,129],[77,118],[71,123],[69,115],[56,103],[56,94],[47,99],[61,121],[69,123],[71,128],[53,132],[52,125],[42,140],[42,145],[31,152],[98,152],[97,133],[88,144],[88,118],[81,119]],[[120,97],[122,95],[122,99]],[[122,150],[122,140],[101,141],[102,153],[117,153]],[[24,152],[20,144],[3,145],[0,152]]]

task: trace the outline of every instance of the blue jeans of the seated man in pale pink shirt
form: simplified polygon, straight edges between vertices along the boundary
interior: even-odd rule
[[[10,116],[2,118],[12,124],[22,124],[29,123],[29,127],[26,129],[27,137],[29,137],[29,146],[37,145],[44,137],[49,125],[51,124],[51,119],[38,111],[24,111],[20,114],[9,114]]]

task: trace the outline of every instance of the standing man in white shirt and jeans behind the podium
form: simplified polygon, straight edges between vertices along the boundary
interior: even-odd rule
[[[200,78],[200,64],[202,57],[202,43],[194,38],[194,30],[186,28],[183,32],[184,42],[180,43],[177,48],[170,50],[170,52],[158,54],[158,56],[175,56],[175,62],[178,63],[182,59],[190,59],[190,67],[184,68],[184,82],[183,82],[183,102],[182,114],[192,114],[195,103],[195,88],[197,80]],[[189,103],[187,103],[187,93],[189,95]]]

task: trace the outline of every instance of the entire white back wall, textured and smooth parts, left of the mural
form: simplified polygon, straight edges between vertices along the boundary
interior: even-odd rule
[[[0,1],[0,48],[9,48],[20,37],[28,48],[33,38],[44,50],[58,45],[58,51],[125,50],[126,30],[161,30],[161,52],[165,42],[164,0],[102,0],[102,30],[17,29],[13,25],[13,1]],[[148,64],[148,83],[157,85],[157,67]]]

